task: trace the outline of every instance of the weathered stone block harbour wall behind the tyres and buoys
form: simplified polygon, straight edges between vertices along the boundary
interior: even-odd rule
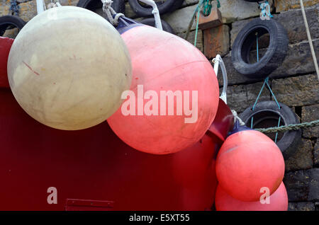
[[[49,2],[50,0],[46,0]],[[78,0],[61,0],[62,5],[77,4]],[[261,0],[262,1],[262,0]],[[319,1],[303,0],[306,15],[313,38],[313,45],[319,59]],[[185,0],[177,11],[162,15],[180,37],[185,37],[196,0]],[[286,28],[289,35],[289,50],[281,67],[270,76],[270,85],[279,102],[289,105],[301,122],[319,119],[319,82],[315,74],[313,59],[303,23],[299,0],[270,0],[274,19]],[[197,47],[212,59],[220,54],[228,71],[228,105],[237,113],[248,108],[257,98],[262,80],[247,79],[235,71],[231,62],[230,51],[240,29],[252,18],[259,16],[257,3],[244,0],[220,0],[220,12],[223,25],[209,30],[207,36],[213,40],[205,40],[203,32],[199,30]],[[18,0],[19,16],[25,21],[35,16],[35,0]],[[216,7],[216,1],[213,1]],[[0,16],[9,14],[10,1],[0,0]],[[125,5],[126,16],[141,18],[133,13],[128,2]],[[97,11],[101,13],[100,11]],[[12,35],[12,34],[9,34]],[[191,28],[189,42],[194,43],[195,25]],[[216,45],[207,45],[214,42]],[[206,45],[205,45],[206,43]],[[261,50],[263,51],[263,50]],[[220,79],[220,83],[223,81]],[[260,100],[272,100],[269,91],[264,90]],[[302,142],[294,156],[286,160],[286,174],[284,183],[289,195],[290,210],[318,210],[319,209],[319,127],[303,129]]]

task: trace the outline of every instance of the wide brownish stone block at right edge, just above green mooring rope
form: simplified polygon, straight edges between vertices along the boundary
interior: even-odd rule
[[[318,89],[319,81],[316,75],[272,81],[272,91],[274,91],[277,100],[289,106],[318,104]]]

